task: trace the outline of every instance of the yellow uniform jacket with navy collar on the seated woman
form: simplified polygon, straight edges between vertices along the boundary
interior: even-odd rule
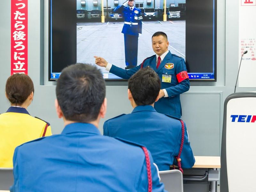
[[[50,135],[49,123],[30,116],[25,108],[10,107],[0,115],[0,167],[13,167],[12,157],[17,146]]]

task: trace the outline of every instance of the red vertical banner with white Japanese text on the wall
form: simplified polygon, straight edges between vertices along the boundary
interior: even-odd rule
[[[11,0],[11,75],[28,74],[28,0]]]

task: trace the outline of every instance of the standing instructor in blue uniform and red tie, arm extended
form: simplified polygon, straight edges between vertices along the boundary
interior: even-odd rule
[[[188,72],[184,59],[168,51],[168,46],[167,35],[158,31],[152,36],[156,55],[146,58],[139,66],[125,70],[98,56],[94,56],[95,63],[123,79],[129,79],[140,68],[151,67],[161,80],[159,100],[154,106],[156,111],[180,118],[180,94],[189,90]]]

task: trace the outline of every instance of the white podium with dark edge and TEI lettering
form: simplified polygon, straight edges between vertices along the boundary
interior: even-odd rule
[[[224,103],[220,191],[255,192],[256,92],[238,92]]]

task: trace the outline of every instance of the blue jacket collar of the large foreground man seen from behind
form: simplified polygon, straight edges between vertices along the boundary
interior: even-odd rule
[[[71,123],[64,127],[61,134],[69,134],[74,132],[84,132],[91,134],[100,134],[100,131],[93,124],[89,123]]]

